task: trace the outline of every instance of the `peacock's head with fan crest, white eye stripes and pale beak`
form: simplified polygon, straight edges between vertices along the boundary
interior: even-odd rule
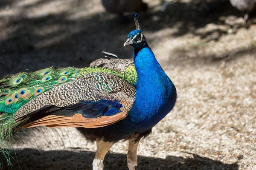
[[[134,31],[131,31],[128,34],[128,39],[124,43],[124,46],[131,45],[134,48],[140,48],[140,47],[143,47],[147,42],[144,34],[140,31],[140,24],[138,21],[138,18],[140,17],[140,15],[137,13],[133,13],[133,16],[134,16],[136,29]]]

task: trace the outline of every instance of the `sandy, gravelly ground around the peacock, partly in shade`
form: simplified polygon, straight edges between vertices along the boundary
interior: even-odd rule
[[[137,170],[256,170],[256,18],[244,23],[228,1],[145,0],[140,25],[174,82],[174,110],[138,149]],[[135,28],[100,0],[2,0],[0,77],[47,66],[86,67],[122,45]],[[145,63],[146,64],[146,63]],[[23,132],[24,133],[24,132]],[[25,137],[24,137],[25,136]],[[106,170],[126,170],[127,142],[115,144]],[[90,170],[96,145],[72,128],[16,136],[14,170]],[[7,167],[4,167],[7,169]]]

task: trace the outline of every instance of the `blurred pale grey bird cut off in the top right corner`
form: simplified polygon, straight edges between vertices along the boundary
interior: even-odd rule
[[[256,7],[256,0],[230,0],[232,6],[242,12],[245,21],[249,18],[249,13]]]

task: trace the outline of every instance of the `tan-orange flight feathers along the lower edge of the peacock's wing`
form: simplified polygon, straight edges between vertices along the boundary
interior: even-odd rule
[[[101,116],[93,119],[83,117],[77,113],[74,116],[48,115],[41,119],[30,122],[22,128],[47,126],[47,127],[86,127],[95,128],[111,125],[119,120],[124,119],[127,112],[120,112],[113,116]]]

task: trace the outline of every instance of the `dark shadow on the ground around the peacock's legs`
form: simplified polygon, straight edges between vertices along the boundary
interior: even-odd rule
[[[13,170],[91,170],[94,152],[81,150],[39,151],[16,150],[17,161]],[[12,156],[15,153],[12,151]],[[127,170],[126,155],[108,153],[104,160],[105,170]],[[8,169],[8,167],[4,167]],[[193,158],[167,156],[166,159],[138,156],[136,170],[238,170],[237,164],[224,164],[209,158],[193,155]]]

